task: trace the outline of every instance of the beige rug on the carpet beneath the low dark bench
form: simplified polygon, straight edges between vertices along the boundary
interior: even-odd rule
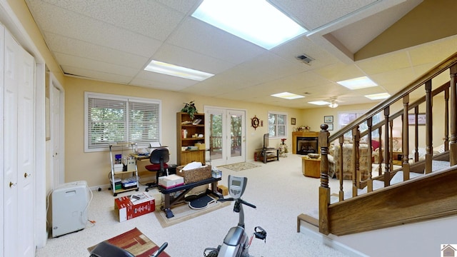
[[[174,217],[172,218],[166,218],[165,211],[160,209],[156,209],[156,211],[154,211],[154,214],[159,220],[159,223],[161,224],[162,228],[166,228],[168,226],[173,226],[177,223],[189,221],[191,218],[204,215],[205,213],[216,211],[219,208],[229,206],[230,203],[230,201],[226,201],[224,203],[214,201],[214,203],[209,203],[208,207],[199,210],[190,208],[189,203],[181,203],[179,205],[171,207],[171,211],[173,211],[174,214]]]

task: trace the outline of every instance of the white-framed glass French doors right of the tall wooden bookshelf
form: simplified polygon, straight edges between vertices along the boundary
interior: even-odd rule
[[[246,161],[246,111],[205,107],[206,159],[212,166]]]

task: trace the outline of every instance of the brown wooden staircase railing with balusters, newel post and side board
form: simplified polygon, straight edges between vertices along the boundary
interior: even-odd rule
[[[450,81],[441,86],[436,86],[436,77],[449,72]],[[319,133],[319,146],[321,148],[321,185],[319,186],[319,207],[318,207],[318,226],[319,231],[323,234],[333,233],[342,235],[347,233],[356,233],[361,231],[372,230],[376,228],[386,228],[388,226],[397,226],[401,223],[424,221],[429,218],[437,218],[446,215],[457,214],[457,196],[453,186],[449,181],[455,181],[457,176],[457,53],[434,66],[423,76],[413,81],[405,88],[398,91],[389,99],[373,107],[363,116],[345,126],[343,129],[336,131],[331,136],[328,133],[328,126],[321,125]],[[436,79],[438,80],[438,79]],[[433,84],[432,84],[433,82]],[[418,91],[423,89],[421,94]],[[443,95],[445,103],[439,113],[433,113],[433,97]],[[412,103],[410,99],[416,99]],[[401,107],[398,107],[401,104]],[[393,110],[397,108],[398,110]],[[418,114],[422,109],[426,115],[425,132],[419,134]],[[437,108],[436,108],[437,109]],[[442,111],[444,110],[444,111]],[[383,119],[377,124],[373,124],[373,117],[382,115]],[[409,124],[408,115],[413,115],[416,119],[413,124]],[[443,115],[443,144],[446,150],[445,154],[433,156],[433,115]],[[402,139],[402,171],[403,183],[390,186],[390,180],[396,171],[393,171],[392,153],[393,153],[393,121],[401,121],[401,139]],[[366,124],[368,129],[360,131],[361,124]],[[438,125],[438,124],[435,124]],[[410,137],[410,126],[413,127],[414,136]],[[438,127],[438,126],[436,126]],[[412,130],[412,128],[411,128]],[[363,163],[371,167],[371,140],[373,131],[378,131],[379,138],[382,141],[379,149],[379,160],[384,163],[384,170],[379,165],[378,176],[373,177],[372,169],[368,168],[368,178],[361,179],[359,171],[360,164],[358,159],[359,144],[361,138],[366,138],[368,144],[369,156],[368,163]],[[338,191],[337,203],[331,203],[331,188],[328,186],[328,152],[330,143],[337,142],[343,146],[343,136],[345,133],[352,133],[352,198],[344,198],[343,188],[343,168],[340,168],[339,174],[340,188]],[[411,139],[410,139],[411,138]],[[419,139],[425,143],[425,160],[418,159]],[[441,140],[441,139],[440,139]],[[414,156],[409,158],[409,142],[414,142]],[[341,155],[343,151],[340,151]],[[343,161],[342,156],[334,156]],[[440,158],[450,161],[451,167],[446,172],[440,171],[433,176],[424,176],[420,179],[410,181],[411,172],[425,173],[432,172],[432,160]],[[412,163],[411,163],[412,162]],[[422,168],[422,170],[421,170]],[[373,180],[384,181],[384,188],[373,191]],[[358,189],[367,187],[368,193],[357,196]],[[448,190],[443,187],[449,187]],[[418,196],[418,191],[421,196]],[[440,193],[439,198],[436,192]],[[406,197],[407,196],[407,197]],[[439,208],[436,208],[436,205]],[[433,206],[433,208],[431,208]],[[406,208],[406,209],[405,209]]]

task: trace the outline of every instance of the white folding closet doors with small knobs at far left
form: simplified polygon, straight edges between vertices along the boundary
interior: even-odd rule
[[[34,256],[34,59],[4,31],[3,250],[4,256]]]

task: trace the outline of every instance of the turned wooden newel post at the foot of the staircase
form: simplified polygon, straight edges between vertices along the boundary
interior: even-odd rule
[[[328,125],[322,124],[319,131],[319,147],[321,148],[321,186],[319,186],[319,232],[330,233],[328,223],[328,206],[330,205],[330,188],[328,187]]]

